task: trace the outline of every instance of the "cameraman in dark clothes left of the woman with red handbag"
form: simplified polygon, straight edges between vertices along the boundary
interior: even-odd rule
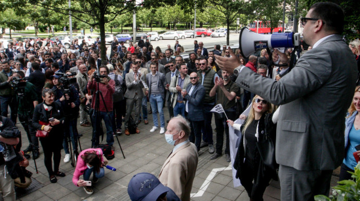
[[[30,82],[26,82],[25,74],[22,71],[16,72],[13,75],[12,87],[15,90],[17,103],[17,114],[21,125],[26,131],[29,140],[29,146],[24,150],[25,153],[33,151],[33,158],[37,159],[39,153],[39,140],[36,137],[36,129],[32,127],[31,119],[35,106],[38,105],[38,94],[35,86]]]

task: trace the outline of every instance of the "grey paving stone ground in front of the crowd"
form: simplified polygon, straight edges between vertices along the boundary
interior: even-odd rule
[[[150,109],[149,106],[150,104],[148,104],[148,109]],[[167,108],[164,108],[164,113],[165,119],[169,119]],[[73,184],[72,178],[75,168],[72,167],[70,163],[65,164],[63,162],[65,156],[63,150],[60,171],[65,172],[66,176],[58,177],[56,184],[50,183],[43,162],[43,150],[40,148],[41,155],[40,158],[36,160],[39,174],[35,173],[34,160],[32,159],[29,160],[30,165],[27,169],[33,172],[33,178],[42,183],[44,187],[18,200],[130,200],[127,186],[132,176],[140,172],[150,172],[158,176],[161,166],[172,151],[172,146],[166,143],[164,135],[159,134],[159,130],[153,133],[149,132],[153,126],[152,114],[148,115],[148,120],[148,125],[145,125],[143,121],[139,124],[139,134],[132,134],[130,136],[122,134],[118,136],[126,157],[125,159],[122,157],[119,144],[115,138],[115,158],[109,160],[109,165],[117,170],[113,172],[105,169],[105,177],[100,178],[99,182],[94,185],[95,192],[93,195],[86,194],[83,188],[76,187]],[[28,139],[22,126],[19,128],[22,131],[23,149],[25,149],[28,146]],[[105,127],[103,128],[105,129]],[[215,128],[214,121],[212,122],[212,128]],[[90,148],[92,127],[81,127],[78,123],[78,131],[80,134],[83,134],[80,138],[81,148],[83,150]],[[124,132],[123,129],[122,132]],[[216,139],[215,136],[216,133],[213,131],[213,139]],[[103,143],[106,143],[106,136]],[[207,179],[214,168],[225,169],[229,166],[229,163],[226,162],[225,155],[215,160],[210,160],[210,157],[211,154],[208,153],[207,147],[200,150],[199,163],[191,191],[191,193],[197,194],[193,196],[191,200],[249,200],[243,187],[233,187],[231,170],[218,171],[214,173],[213,179]],[[337,180],[338,177],[333,176],[332,186],[336,185]],[[265,191],[264,200],[280,200],[279,182],[271,182]]]

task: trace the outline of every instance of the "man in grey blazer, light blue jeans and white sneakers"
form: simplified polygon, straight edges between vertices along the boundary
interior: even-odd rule
[[[154,126],[150,132],[154,132],[158,129],[157,112],[160,116],[160,134],[165,133],[165,117],[163,111],[164,98],[165,98],[165,87],[166,79],[163,73],[156,71],[156,64],[150,64],[151,73],[146,75],[146,84],[148,89],[146,94],[149,95],[149,102],[153,113]]]

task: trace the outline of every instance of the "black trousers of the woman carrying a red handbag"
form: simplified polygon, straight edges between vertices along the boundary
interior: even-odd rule
[[[52,133],[55,134],[55,133]],[[57,133],[59,134],[59,133]],[[59,171],[60,159],[61,159],[61,146],[54,146],[53,142],[49,142],[49,140],[40,140],[41,146],[44,151],[44,164],[47,172],[50,175]],[[62,143],[62,142],[61,142]],[[53,161],[54,161],[54,169],[52,170],[52,157],[53,153]]]

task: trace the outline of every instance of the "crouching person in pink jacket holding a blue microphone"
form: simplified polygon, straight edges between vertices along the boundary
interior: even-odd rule
[[[87,194],[93,194],[93,186],[86,186],[87,182],[93,175],[93,183],[98,182],[98,178],[104,176],[104,160],[102,158],[101,149],[85,149],[78,157],[76,169],[73,176],[73,183],[75,186],[83,186]],[[84,175],[84,179],[79,179],[81,175]]]

